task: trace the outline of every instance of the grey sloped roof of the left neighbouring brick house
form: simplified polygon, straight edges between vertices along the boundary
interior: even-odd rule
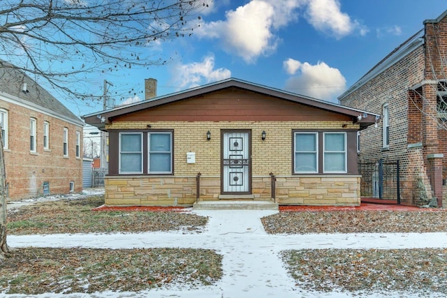
[[[26,84],[26,91],[23,90]],[[47,114],[63,119],[73,124],[85,124],[68,110],[59,100],[54,98],[41,85],[32,80],[22,70],[12,64],[0,60],[0,96],[10,99],[14,103],[41,110]]]

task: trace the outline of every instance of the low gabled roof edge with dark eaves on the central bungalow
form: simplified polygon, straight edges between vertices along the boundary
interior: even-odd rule
[[[159,105],[166,105],[168,103],[174,103],[178,100],[184,100],[187,98],[192,98],[194,96],[202,96],[204,94],[219,91],[231,87],[240,88],[246,91],[253,91],[259,94],[264,94],[267,96],[272,96],[275,98],[281,98],[283,100],[290,100],[294,103],[300,103],[302,105],[308,105],[310,107],[316,107],[321,110],[326,110],[330,112],[335,112],[339,114],[344,114],[346,116],[353,117],[353,121],[358,121],[358,115],[362,115],[360,120],[360,126],[366,127],[374,124],[380,118],[378,114],[372,114],[362,110],[354,109],[352,107],[345,107],[343,105],[338,105],[336,103],[330,103],[325,100],[318,100],[316,98],[311,98],[308,96],[301,96],[298,94],[293,94],[288,91],[283,91],[280,89],[274,89],[270,87],[265,87],[260,84],[254,84],[244,80],[238,80],[235,78],[229,78],[226,80],[221,80],[219,82],[214,82],[211,84],[206,84],[202,87],[196,87],[193,89],[187,89],[185,91],[177,92],[174,94],[168,94],[166,96],[159,96],[149,100],[140,101],[138,103],[132,103],[130,105],[124,105],[121,107],[115,107],[111,110],[104,110],[101,112],[96,112],[92,114],[87,114],[82,117],[85,119],[87,124],[91,124],[98,128],[104,128],[105,123],[109,124],[112,117],[122,116],[124,114],[129,114],[132,112],[138,112],[140,110],[147,110],[152,107],[157,107]],[[367,116],[367,117],[365,117]]]

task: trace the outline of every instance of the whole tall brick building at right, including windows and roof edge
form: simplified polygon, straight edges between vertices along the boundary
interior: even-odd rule
[[[446,200],[446,15],[425,20],[339,96],[342,105],[382,115],[379,129],[361,133],[359,161],[400,161],[402,204]]]

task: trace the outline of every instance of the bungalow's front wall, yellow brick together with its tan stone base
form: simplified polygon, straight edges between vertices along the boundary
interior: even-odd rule
[[[357,129],[345,121],[320,122],[156,122],[152,129],[174,130],[174,176],[108,176],[105,204],[184,205],[196,202],[196,174],[200,200],[219,200],[221,194],[221,130],[251,129],[252,193],[255,200],[272,200],[270,172],[277,175],[279,204],[358,205],[358,176],[292,176],[293,129]],[[147,122],[115,122],[109,129],[147,129]],[[210,131],[211,140],[206,133]],[[261,133],[265,131],[265,141]],[[186,163],[187,152],[196,163]]]

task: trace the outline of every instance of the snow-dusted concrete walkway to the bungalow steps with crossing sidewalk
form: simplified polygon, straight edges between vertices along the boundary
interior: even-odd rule
[[[276,211],[194,211],[209,216],[200,234],[50,234],[8,236],[12,247],[211,248],[223,255],[218,285],[196,290],[151,290],[150,297],[351,297],[300,290],[288,276],[279,252],[300,248],[447,248],[447,233],[269,235],[260,218]],[[147,293],[145,294],[147,295]],[[145,297],[135,294],[132,297]],[[85,296],[82,297],[101,297]],[[105,297],[105,296],[104,296]],[[107,297],[129,297],[126,295]],[[393,297],[393,295],[390,295]]]

